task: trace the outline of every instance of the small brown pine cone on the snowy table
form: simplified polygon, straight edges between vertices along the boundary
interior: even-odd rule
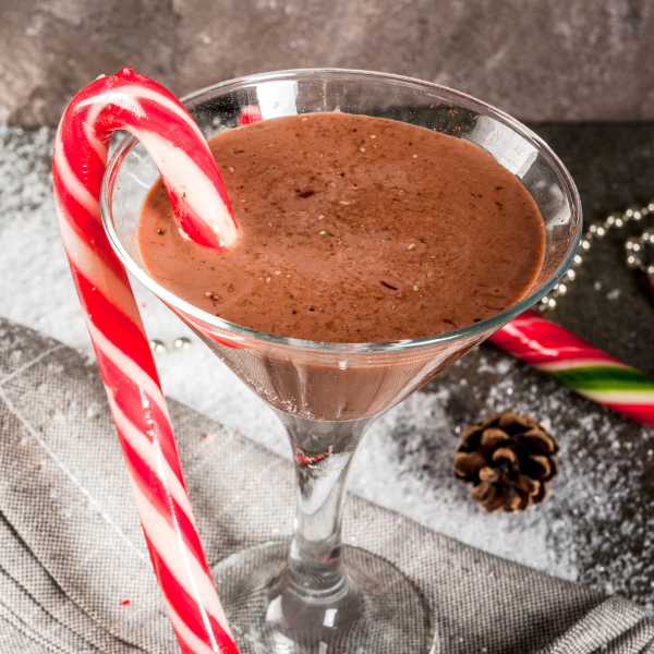
[[[558,472],[558,445],[536,421],[514,411],[488,416],[463,432],[455,474],[487,511],[523,511],[544,499]]]

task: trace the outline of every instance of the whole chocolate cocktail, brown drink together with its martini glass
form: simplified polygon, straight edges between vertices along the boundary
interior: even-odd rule
[[[184,239],[162,189],[146,201],[157,173],[134,140],[108,167],[102,216],[128,268],[291,439],[291,543],[215,569],[238,644],[427,652],[435,609],[420,589],[342,550],[349,463],[376,417],[556,283],[578,241],[572,181],[509,117],[391,75],[271,73],[185,105],[214,137],[239,243],[208,253]],[[253,105],[263,121],[233,130]]]

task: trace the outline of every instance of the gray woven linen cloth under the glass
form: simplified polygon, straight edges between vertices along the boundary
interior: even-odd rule
[[[209,566],[288,536],[291,464],[169,405]],[[0,653],[179,651],[95,364],[0,319]],[[413,580],[443,654],[654,653],[654,620],[623,598],[491,556],[354,496],[344,530]],[[241,637],[239,645],[250,651]]]

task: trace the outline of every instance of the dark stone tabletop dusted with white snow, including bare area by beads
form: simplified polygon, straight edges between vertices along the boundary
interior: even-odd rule
[[[572,172],[586,220],[602,222],[610,211],[654,198],[654,124],[534,129]],[[52,137],[47,128],[0,126],[0,315],[92,356],[56,223]],[[642,226],[611,230],[593,245],[550,316],[654,374],[654,303],[625,265],[623,239]],[[270,410],[145,289],[136,293],[150,338],[168,346],[180,336],[192,341],[156,354],[165,391],[290,456]],[[507,408],[549,426],[561,445],[561,471],[544,504],[488,514],[453,479],[451,460],[463,427]],[[654,428],[597,407],[492,346],[383,416],[354,468],[354,493],[426,526],[654,608]]]

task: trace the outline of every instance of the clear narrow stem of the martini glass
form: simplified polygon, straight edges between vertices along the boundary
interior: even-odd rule
[[[319,601],[347,593],[341,522],[350,462],[372,419],[313,421],[276,412],[293,448],[298,481],[295,533],[286,585]]]

